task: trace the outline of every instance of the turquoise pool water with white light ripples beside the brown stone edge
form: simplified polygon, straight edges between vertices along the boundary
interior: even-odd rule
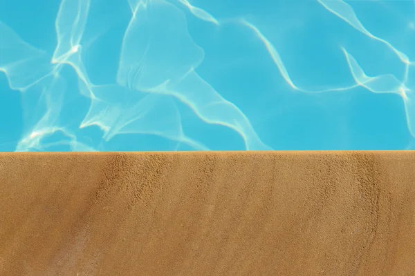
[[[0,0],[0,150],[415,147],[415,2]]]

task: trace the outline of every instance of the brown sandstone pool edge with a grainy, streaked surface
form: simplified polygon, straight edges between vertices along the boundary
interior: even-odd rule
[[[415,275],[415,152],[3,153],[0,275]]]

